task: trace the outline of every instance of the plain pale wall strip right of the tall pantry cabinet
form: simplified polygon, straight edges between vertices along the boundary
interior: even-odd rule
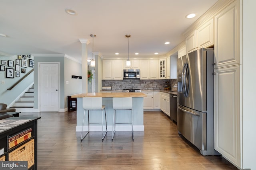
[[[256,170],[256,1],[242,0],[243,168]]]

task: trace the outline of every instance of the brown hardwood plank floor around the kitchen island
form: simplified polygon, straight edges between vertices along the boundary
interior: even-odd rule
[[[144,112],[144,132],[112,131],[104,142],[90,132],[80,143],[76,111],[20,113],[38,120],[38,170],[238,170],[222,156],[202,156],[178,135],[176,124],[161,111]]]

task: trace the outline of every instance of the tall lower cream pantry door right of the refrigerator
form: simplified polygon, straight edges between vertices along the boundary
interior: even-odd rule
[[[218,68],[214,76],[214,148],[241,167],[240,66]]]

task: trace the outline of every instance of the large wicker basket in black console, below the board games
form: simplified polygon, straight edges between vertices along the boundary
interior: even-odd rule
[[[10,161],[28,161],[28,168],[34,165],[34,139],[9,153]]]

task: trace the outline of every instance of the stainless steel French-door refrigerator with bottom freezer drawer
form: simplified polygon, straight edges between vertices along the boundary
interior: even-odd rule
[[[214,50],[198,49],[178,59],[178,133],[202,155],[214,150]]]

